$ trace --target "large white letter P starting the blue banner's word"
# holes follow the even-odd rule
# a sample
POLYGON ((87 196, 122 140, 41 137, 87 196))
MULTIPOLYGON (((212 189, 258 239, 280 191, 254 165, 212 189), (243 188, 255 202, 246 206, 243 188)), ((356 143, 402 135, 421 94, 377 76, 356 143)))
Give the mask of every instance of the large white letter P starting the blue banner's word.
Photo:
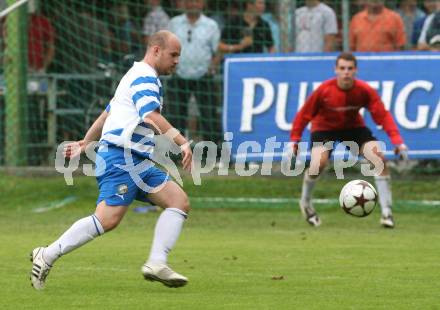
POLYGON ((243 79, 243 101, 241 111, 241 132, 252 131, 252 118, 254 115, 267 111, 272 105, 274 90, 272 83, 263 78, 243 79), (255 89, 257 86, 263 88, 263 97, 260 104, 254 106, 255 89))

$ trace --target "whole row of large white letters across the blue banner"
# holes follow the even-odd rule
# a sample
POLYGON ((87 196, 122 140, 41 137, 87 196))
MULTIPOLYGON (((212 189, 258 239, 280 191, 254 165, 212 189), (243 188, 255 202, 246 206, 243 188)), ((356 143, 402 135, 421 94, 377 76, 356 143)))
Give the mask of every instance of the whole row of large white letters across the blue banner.
MULTIPOLYGON (((393 93, 395 92, 395 81, 368 81, 371 87, 378 90, 381 94, 381 99, 387 110, 391 110, 393 93)), ((252 123, 254 116, 260 115, 268 111, 274 102, 276 102, 275 109, 275 124, 276 126, 284 131, 289 131, 291 128, 292 120, 289 119, 287 115, 287 106, 289 104, 294 104, 295 102, 289 102, 289 91, 291 85, 287 82, 278 83, 274 85, 271 81, 264 78, 246 78, 243 79, 243 99, 242 99, 242 115, 241 115, 241 132, 252 131, 252 123), (256 88, 262 88, 262 98, 259 103, 255 102, 256 88), (276 94, 275 94, 276 88, 276 94), (276 97, 276 98, 275 98, 276 97)), ((298 101, 297 110, 299 110, 310 95, 308 92, 309 85, 312 85, 313 91, 316 90, 321 82, 300 82, 298 88, 298 101)), ((421 129, 428 127, 428 118, 430 112, 429 105, 417 106, 417 112, 413 117, 409 117, 407 113, 407 105, 409 104, 409 98, 411 94, 416 90, 424 90, 430 93, 433 89, 433 83, 426 80, 412 81, 406 84, 400 92, 397 93, 395 104, 394 104, 394 117, 396 122, 406 128, 406 129, 421 129)), ((397 91, 397 90, 396 90, 397 91)), ((364 109, 361 109, 360 113, 364 115, 364 109)), ((412 115, 411 115, 412 116, 412 115)), ((438 128, 440 122, 440 101, 434 110, 433 117, 429 123, 430 129, 438 128)), ((310 126, 310 124, 309 124, 310 126)), ((378 128, 381 128, 378 126, 378 128)))

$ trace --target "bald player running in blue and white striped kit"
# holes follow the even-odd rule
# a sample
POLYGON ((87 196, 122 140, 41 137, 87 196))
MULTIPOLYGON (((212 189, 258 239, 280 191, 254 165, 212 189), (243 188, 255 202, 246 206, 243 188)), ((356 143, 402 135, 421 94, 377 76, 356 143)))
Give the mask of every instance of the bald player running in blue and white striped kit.
POLYGON ((103 172, 97 176, 99 197, 94 214, 75 222, 49 246, 32 251, 31 282, 35 289, 44 288, 50 269, 62 255, 114 229, 134 199, 151 201, 164 208, 156 223, 149 259, 141 268, 143 276, 169 287, 183 286, 188 282, 186 277, 167 265, 168 253, 187 218, 188 197, 148 160, 154 149, 155 131, 174 132, 171 136, 174 143, 181 146, 183 168, 191 169, 192 151, 187 140, 160 114, 163 91, 158 75, 174 71, 180 50, 180 42, 171 32, 153 34, 144 59, 135 62, 121 79, 106 111, 79 142, 80 148, 75 149, 72 145, 65 148, 66 157, 78 156, 101 136, 97 155, 104 160, 105 166, 97 161, 97 171, 101 169, 103 172), (126 157, 130 160, 126 161, 126 157), (139 171, 140 165, 147 168, 139 171), (135 182, 133 173, 142 182, 135 182), (151 190, 147 192, 146 189, 151 190))

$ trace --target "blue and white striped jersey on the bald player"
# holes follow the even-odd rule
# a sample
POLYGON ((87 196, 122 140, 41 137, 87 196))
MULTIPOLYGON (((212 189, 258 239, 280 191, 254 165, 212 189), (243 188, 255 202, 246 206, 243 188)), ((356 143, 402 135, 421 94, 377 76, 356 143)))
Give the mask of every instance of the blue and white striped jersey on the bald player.
POLYGON ((123 76, 106 110, 101 144, 129 148, 144 158, 154 151, 154 131, 144 117, 162 109, 162 84, 156 71, 145 62, 135 62, 123 76))

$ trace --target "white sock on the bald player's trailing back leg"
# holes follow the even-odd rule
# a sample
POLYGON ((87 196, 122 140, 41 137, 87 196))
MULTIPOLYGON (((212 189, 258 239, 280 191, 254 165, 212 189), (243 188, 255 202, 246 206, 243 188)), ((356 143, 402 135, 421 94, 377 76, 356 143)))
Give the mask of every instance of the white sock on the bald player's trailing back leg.
POLYGON ((52 265, 62 255, 73 251, 104 233, 104 228, 96 215, 76 221, 54 243, 44 249, 43 259, 52 265))

